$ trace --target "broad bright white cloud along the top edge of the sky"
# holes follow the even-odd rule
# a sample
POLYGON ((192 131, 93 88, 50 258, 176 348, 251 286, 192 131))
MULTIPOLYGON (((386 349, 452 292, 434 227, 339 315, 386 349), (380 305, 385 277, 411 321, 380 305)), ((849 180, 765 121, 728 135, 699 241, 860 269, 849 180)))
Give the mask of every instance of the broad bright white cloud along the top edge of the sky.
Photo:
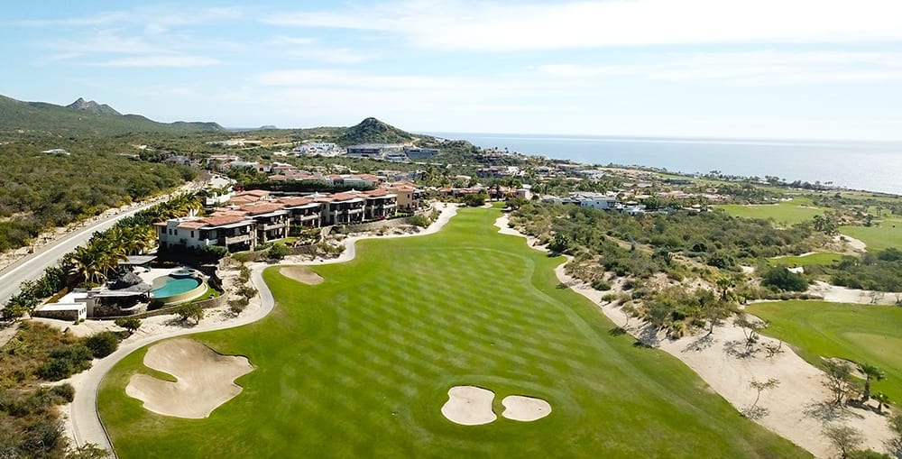
POLYGON ((408 1, 274 14, 266 23, 385 32, 438 50, 902 40, 897 0, 408 1))

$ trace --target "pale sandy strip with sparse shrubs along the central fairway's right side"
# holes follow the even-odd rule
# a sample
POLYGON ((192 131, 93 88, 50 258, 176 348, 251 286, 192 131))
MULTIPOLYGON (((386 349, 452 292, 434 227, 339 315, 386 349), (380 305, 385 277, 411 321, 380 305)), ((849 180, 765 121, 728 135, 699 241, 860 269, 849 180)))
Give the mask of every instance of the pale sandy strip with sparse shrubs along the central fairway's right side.
MULTIPOLYGON (((503 234, 519 234, 507 227, 505 217, 499 218, 495 225, 502 228, 503 234)), ((529 245, 535 247, 532 241, 529 245)), ((667 340, 639 320, 630 320, 620 307, 603 301, 601 298, 608 292, 592 289, 566 275, 564 264, 557 267, 556 273, 558 280, 599 305, 614 324, 636 337, 653 336, 659 349, 686 363, 737 410, 749 412, 752 415, 750 418, 760 425, 817 457, 835 455, 833 446, 821 434, 827 422, 844 423, 858 429, 865 438, 862 446, 875 451, 883 451, 883 442, 891 436, 887 418, 873 411, 827 407, 824 400, 830 398, 830 393, 822 384, 824 372, 805 362, 788 345, 782 345, 781 352, 769 358, 765 345, 779 345, 779 342, 760 336, 751 352, 745 352, 743 330, 732 323, 715 327, 712 335, 703 332, 667 340), (757 391, 751 389, 750 382, 768 381, 770 378, 779 381, 778 387, 762 392, 757 409, 749 411, 757 395, 757 391)))

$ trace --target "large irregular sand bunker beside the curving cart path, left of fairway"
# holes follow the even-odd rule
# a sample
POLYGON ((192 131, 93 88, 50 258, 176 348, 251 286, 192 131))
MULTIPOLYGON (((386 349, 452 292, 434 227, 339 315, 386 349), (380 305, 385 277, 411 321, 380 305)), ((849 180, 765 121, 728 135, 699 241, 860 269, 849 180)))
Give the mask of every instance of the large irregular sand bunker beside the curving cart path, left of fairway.
POLYGON ((162 381, 152 376, 132 375, 125 393, 142 400, 144 408, 177 418, 207 418, 214 409, 241 392, 239 376, 253 371, 245 357, 221 355, 187 338, 154 344, 144 355, 144 365, 175 376, 162 381))

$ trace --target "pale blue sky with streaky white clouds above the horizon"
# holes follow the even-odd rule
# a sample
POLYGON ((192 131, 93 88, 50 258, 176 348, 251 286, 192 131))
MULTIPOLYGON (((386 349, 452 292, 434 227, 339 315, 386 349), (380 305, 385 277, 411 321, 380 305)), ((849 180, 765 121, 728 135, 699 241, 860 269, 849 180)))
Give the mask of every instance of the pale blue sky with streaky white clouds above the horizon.
POLYGON ((899 0, 3 2, 0 51, 163 122, 902 140, 899 0))

